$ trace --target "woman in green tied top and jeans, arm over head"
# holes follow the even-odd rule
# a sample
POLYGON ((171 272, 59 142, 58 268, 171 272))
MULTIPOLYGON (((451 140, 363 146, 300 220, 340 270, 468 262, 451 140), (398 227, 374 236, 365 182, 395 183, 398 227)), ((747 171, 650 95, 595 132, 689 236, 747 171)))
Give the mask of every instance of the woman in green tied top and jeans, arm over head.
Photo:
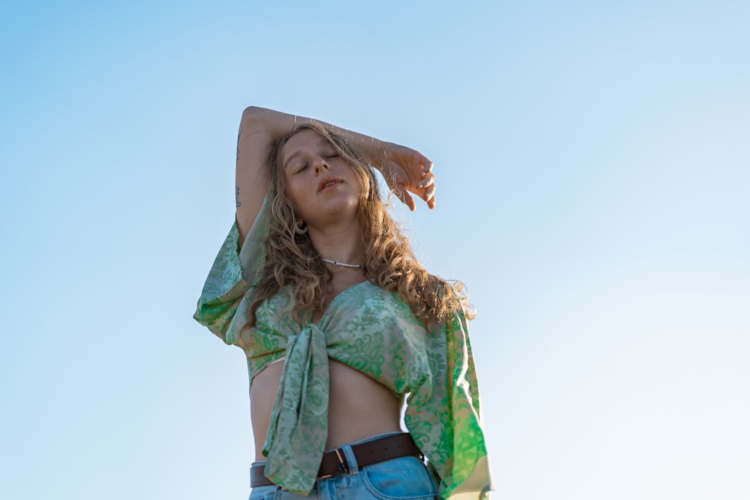
POLYGON ((248 358, 251 500, 490 489, 462 300, 414 259, 372 167, 434 207, 432 163, 410 148, 242 115, 236 223, 194 317, 248 358))

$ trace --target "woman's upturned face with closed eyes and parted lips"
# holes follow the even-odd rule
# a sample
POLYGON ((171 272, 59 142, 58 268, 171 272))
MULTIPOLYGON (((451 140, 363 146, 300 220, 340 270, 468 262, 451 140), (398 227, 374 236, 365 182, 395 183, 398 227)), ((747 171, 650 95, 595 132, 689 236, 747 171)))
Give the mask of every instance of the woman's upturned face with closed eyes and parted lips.
POLYGON ((297 217, 323 229, 356 220, 362 184, 351 166, 314 130, 293 135, 281 151, 287 198, 297 217))

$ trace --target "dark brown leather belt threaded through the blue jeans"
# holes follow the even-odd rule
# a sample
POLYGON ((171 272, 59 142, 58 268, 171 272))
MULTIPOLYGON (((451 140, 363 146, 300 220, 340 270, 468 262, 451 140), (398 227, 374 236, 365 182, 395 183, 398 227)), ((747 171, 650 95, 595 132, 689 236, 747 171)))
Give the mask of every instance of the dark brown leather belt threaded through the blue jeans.
MULTIPOLYGON (((412 436, 409 433, 395 434, 394 436, 384 436, 380 439, 351 445, 354 452, 354 458, 358 467, 371 466, 374 463, 385 462, 401 457, 422 457, 417 445, 414 444, 412 436)), ((338 474, 344 474, 349 471, 347 457, 344 456, 344 450, 336 448, 332 451, 326 451, 323 454, 323 460, 320 462, 318 469, 318 479, 331 478, 338 474)), ((264 474, 266 466, 252 466, 250 468, 250 486, 269 486, 274 484, 264 474)))

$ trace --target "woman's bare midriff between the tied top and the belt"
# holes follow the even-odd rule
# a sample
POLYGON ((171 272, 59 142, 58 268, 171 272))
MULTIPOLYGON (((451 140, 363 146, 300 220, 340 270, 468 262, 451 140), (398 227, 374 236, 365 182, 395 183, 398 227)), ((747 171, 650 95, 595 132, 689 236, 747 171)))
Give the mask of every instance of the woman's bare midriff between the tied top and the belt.
MULTIPOLYGON (((284 362, 266 367, 253 379, 250 413, 255 460, 263 457, 271 409, 278 392, 284 362)), ((385 385, 329 358, 329 433, 326 450, 401 430, 401 401, 385 385)))

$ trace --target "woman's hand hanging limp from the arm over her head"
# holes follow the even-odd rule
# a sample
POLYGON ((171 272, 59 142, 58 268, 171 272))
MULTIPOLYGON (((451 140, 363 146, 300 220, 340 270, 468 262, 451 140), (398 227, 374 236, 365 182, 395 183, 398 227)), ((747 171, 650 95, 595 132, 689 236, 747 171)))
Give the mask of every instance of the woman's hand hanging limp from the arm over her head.
POLYGON ((411 193, 424 199, 429 208, 435 206, 435 175, 432 162, 419 151, 386 142, 380 171, 393 192, 410 210, 416 208, 411 193))

